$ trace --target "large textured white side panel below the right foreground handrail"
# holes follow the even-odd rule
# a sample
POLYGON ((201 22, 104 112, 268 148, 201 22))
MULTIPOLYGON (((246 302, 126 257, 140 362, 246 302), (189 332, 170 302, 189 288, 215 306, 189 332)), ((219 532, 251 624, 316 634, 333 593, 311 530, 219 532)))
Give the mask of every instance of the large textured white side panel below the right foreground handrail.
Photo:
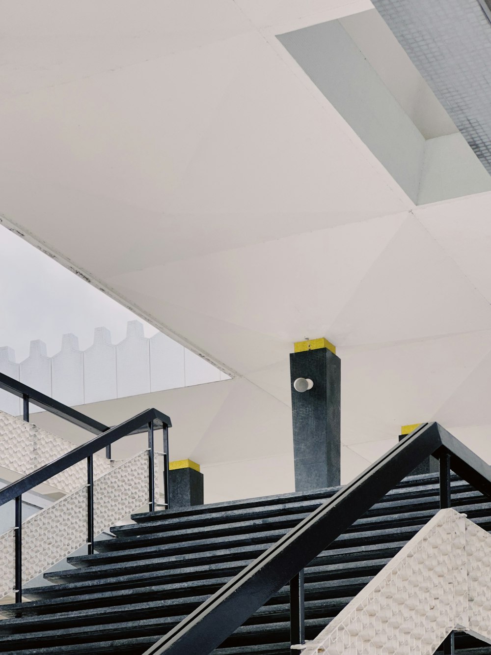
POLYGON ((302 655, 433 655, 454 629, 491 644, 491 536, 440 510, 302 655))

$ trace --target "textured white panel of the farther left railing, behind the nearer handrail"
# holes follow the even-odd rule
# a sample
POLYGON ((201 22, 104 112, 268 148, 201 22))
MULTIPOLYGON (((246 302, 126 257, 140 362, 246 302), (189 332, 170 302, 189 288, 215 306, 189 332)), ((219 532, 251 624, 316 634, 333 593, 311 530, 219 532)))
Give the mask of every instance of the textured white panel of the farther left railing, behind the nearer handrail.
MULTIPOLYGON (((69 453, 75 446, 33 423, 0 411, 0 466, 23 476, 39 466, 49 464, 69 453)), ((94 476, 100 477, 111 470, 111 463, 100 455, 94 455, 94 476)), ((79 489, 87 481, 86 462, 50 478, 47 483, 69 492, 79 489)))

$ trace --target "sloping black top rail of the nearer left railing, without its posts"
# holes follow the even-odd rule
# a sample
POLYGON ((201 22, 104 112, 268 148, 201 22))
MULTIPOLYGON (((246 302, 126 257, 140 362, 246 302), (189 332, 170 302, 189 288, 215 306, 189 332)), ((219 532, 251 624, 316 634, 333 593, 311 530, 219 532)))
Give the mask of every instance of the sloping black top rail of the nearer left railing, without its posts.
POLYGON ((128 436, 128 434, 131 434, 134 430, 143 428, 143 426, 147 429, 147 425, 151 422, 154 422, 155 427, 167 426, 170 428, 172 426, 170 418, 158 411, 158 409, 145 409, 145 411, 137 414, 131 419, 123 421, 113 428, 107 429, 106 432, 103 432, 99 436, 94 437, 94 439, 86 441, 86 443, 82 443, 82 445, 73 448, 69 453, 62 455, 62 457, 58 457, 58 459, 53 460, 49 464, 40 466, 32 473, 29 473, 16 482, 10 483, 7 487, 0 489, 0 507, 6 502, 9 502, 9 500, 14 500, 14 498, 26 493, 26 491, 30 491, 33 487, 37 487, 37 485, 46 482, 50 477, 56 476, 58 473, 69 468, 69 466, 81 462, 106 446, 111 445, 111 443, 118 441, 120 438, 128 436))

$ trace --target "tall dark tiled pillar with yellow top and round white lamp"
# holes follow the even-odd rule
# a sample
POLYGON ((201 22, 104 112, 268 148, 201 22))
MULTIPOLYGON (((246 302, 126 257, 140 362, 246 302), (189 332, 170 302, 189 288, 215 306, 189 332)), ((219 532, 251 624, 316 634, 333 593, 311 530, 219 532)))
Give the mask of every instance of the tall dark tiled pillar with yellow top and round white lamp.
POLYGON ((335 487, 341 453, 341 360, 335 347, 327 339, 296 343, 290 375, 295 491, 335 487))

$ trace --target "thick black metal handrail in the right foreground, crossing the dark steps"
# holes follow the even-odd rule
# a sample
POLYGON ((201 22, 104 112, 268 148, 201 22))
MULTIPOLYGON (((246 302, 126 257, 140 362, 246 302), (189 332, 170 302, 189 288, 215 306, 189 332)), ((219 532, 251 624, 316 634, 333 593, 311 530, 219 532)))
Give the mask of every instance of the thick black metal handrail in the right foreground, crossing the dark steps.
POLYGON ((450 506, 450 469, 491 496, 491 466, 439 424, 422 424, 259 555, 144 655, 208 655, 289 582, 291 607, 302 612, 303 595, 299 602, 298 594, 303 569, 430 455, 440 461, 441 508, 450 506))

